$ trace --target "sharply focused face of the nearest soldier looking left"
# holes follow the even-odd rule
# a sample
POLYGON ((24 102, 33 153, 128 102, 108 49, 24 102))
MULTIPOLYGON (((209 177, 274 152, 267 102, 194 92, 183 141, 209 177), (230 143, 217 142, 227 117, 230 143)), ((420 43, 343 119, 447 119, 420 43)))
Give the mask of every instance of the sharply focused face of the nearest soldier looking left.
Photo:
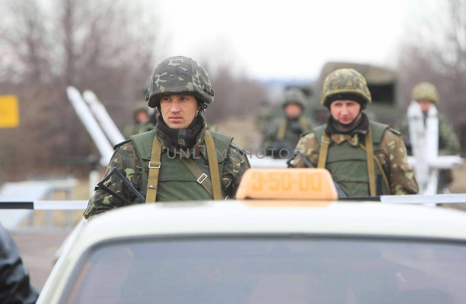
POLYGON ((171 129, 187 129, 200 110, 192 95, 170 95, 160 99, 160 111, 171 129))

